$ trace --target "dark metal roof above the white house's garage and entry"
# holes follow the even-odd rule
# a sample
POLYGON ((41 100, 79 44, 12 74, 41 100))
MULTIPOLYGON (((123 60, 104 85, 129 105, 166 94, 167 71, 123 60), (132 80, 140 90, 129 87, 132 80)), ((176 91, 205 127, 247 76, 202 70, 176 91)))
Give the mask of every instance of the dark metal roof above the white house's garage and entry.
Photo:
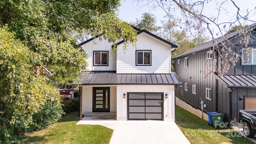
POLYGON ((116 74, 116 71, 82 71, 81 85, 180 85, 175 72, 170 74, 116 74))

